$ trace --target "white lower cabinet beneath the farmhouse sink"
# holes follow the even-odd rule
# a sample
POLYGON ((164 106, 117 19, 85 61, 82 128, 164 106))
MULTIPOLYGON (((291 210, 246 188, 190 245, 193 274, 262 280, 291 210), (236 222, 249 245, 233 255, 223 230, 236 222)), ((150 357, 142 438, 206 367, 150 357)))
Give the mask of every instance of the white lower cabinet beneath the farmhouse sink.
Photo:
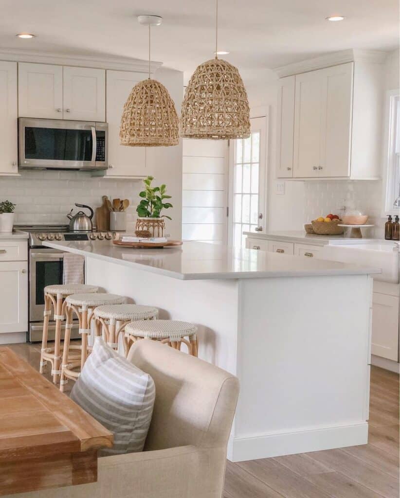
MULTIPOLYGON (((397 287, 398 291, 399 285, 394 286, 397 287)), ((399 293, 390 295, 374 292, 372 302, 371 353, 397 362, 399 354, 399 293)))

